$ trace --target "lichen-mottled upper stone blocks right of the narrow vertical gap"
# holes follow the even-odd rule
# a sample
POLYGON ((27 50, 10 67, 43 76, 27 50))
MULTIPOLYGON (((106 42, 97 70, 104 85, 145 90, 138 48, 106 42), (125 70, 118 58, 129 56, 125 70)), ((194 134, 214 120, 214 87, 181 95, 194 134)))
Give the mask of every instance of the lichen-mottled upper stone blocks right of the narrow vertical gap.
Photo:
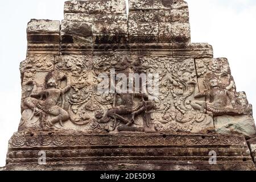
MULTIPOLYGON (((156 3, 156 1, 154 2, 156 3)), ((130 9, 133 9, 134 2, 130 3, 130 9)), ((163 7, 157 7, 158 5, 154 5, 154 3, 146 1, 142 1, 141 3, 146 4, 144 9, 135 9, 129 13, 128 27, 130 43, 190 42, 190 25, 188 22, 187 7, 181 6, 175 9, 170 6, 170 9, 163 10, 163 7), (148 8, 147 5, 149 5, 148 8)))

